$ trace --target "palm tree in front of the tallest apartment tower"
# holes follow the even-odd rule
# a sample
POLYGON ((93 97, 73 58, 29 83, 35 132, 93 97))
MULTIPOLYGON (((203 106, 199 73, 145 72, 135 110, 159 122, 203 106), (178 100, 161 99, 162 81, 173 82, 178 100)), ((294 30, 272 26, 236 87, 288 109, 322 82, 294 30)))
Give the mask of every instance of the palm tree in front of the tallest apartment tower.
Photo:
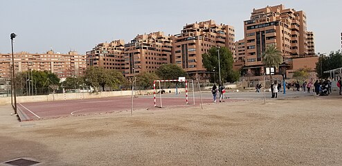
MULTIPOLYGON (((277 67, 282 64, 282 52, 278 50, 276 45, 271 44, 267 46, 264 53, 262 53, 262 64, 266 67, 277 67)), ((272 75, 270 73, 271 80, 272 75)))

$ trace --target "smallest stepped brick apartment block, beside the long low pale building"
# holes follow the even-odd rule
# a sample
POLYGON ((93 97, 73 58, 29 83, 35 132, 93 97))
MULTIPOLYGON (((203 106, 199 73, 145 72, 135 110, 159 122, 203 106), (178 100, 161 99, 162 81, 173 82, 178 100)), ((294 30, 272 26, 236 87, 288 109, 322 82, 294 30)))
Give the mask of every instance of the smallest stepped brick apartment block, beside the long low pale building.
POLYGON ((125 73, 124 50, 125 42, 122 39, 100 43, 87 51, 87 66, 101 66, 125 73))

